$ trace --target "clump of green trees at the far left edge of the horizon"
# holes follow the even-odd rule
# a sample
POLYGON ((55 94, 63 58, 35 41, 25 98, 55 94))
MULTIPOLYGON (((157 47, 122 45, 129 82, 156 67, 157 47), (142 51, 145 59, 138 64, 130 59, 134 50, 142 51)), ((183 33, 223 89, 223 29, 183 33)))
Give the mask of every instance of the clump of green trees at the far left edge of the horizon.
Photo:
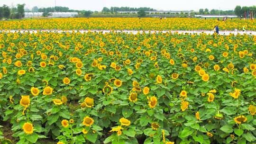
POLYGON ((24 11, 25 4, 18 4, 17 7, 9 8, 7 5, 3 5, 0 7, 0 19, 2 18, 11 18, 11 19, 18 19, 24 18, 25 11, 24 11))

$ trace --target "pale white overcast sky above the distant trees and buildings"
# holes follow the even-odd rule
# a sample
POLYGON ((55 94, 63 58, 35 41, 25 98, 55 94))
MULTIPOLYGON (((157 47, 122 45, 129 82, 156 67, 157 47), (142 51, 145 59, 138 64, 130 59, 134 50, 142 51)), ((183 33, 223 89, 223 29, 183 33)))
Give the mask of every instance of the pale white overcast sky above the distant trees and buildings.
MULTIPOLYGON (((55 0, 0 0, 0 6, 3 4, 15 6, 18 3, 25 3, 25 8, 29 9, 34 6, 38 8, 55 6, 55 0)), ((201 8, 231 10, 237 5, 256 5, 256 0, 56 0, 56 6, 92 11, 101 11, 103 7, 150 7, 157 10, 197 11, 201 8)))

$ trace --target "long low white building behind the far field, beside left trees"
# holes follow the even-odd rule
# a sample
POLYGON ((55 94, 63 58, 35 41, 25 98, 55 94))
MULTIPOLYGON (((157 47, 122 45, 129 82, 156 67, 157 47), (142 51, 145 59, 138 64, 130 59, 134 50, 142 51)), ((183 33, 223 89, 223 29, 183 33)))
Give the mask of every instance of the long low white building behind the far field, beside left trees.
MULTIPOLYGON (((78 15, 77 12, 50 12, 49 18, 73 18, 78 15)), ((42 17, 43 12, 25 12, 25 18, 42 17)))

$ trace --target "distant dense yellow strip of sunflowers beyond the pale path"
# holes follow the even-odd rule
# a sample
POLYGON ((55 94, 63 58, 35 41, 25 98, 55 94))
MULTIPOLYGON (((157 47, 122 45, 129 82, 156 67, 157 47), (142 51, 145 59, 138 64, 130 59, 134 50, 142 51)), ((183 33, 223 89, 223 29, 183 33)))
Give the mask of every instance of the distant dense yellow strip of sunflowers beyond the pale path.
POLYGON ((2 29, 126 29, 126 30, 212 30, 218 25, 220 30, 255 31, 255 20, 238 18, 218 21, 199 18, 47 18, 0 21, 2 29))

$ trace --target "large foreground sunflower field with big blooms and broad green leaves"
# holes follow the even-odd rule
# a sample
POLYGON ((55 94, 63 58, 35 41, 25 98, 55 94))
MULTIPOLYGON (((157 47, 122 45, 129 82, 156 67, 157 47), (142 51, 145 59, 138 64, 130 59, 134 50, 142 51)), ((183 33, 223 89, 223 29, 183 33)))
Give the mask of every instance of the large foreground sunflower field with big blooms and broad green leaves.
POLYGON ((4 144, 256 143, 256 36, 1 32, 0 61, 4 144))

